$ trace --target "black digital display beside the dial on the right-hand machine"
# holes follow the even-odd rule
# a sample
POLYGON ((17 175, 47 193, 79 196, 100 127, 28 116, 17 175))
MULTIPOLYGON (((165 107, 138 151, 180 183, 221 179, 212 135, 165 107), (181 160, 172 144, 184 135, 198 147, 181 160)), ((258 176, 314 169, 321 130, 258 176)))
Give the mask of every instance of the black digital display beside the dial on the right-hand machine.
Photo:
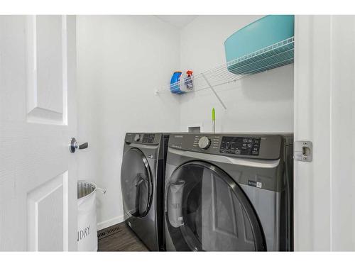
POLYGON ((258 156, 261 138, 222 137, 220 153, 258 156))

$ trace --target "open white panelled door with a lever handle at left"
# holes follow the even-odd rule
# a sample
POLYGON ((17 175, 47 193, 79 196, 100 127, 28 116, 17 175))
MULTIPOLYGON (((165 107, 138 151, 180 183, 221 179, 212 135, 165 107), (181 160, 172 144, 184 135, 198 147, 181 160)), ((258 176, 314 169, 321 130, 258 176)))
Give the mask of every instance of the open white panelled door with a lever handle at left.
POLYGON ((76 250, 75 16, 0 16, 0 250, 76 250))

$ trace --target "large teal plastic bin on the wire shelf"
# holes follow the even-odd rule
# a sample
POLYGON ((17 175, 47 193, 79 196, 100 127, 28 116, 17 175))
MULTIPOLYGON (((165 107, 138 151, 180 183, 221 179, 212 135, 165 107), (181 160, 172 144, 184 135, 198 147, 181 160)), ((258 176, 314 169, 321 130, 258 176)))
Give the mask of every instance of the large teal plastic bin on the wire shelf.
POLYGON ((293 62, 294 28, 293 15, 265 16, 241 28, 224 42, 228 70, 253 74, 293 62))

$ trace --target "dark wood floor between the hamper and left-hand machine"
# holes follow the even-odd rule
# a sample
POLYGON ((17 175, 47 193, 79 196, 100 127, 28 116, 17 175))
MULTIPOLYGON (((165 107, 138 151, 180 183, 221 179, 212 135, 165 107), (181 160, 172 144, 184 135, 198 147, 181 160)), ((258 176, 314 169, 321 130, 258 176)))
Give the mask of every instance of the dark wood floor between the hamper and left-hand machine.
MULTIPOLYGON (((126 223, 119 223, 110 228, 116 226, 119 226, 119 230, 116 233, 99 239, 99 251, 149 251, 131 228, 126 226, 126 223)), ((102 229, 102 231, 107 229, 109 228, 102 229)))

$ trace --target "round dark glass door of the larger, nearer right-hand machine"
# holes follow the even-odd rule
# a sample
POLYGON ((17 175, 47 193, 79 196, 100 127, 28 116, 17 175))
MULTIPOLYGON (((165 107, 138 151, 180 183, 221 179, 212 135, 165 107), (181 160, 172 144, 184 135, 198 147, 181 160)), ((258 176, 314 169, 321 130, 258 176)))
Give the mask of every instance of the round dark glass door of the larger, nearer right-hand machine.
POLYGON ((175 250, 266 250, 249 199, 218 167, 187 162, 173 172, 165 193, 175 250))

